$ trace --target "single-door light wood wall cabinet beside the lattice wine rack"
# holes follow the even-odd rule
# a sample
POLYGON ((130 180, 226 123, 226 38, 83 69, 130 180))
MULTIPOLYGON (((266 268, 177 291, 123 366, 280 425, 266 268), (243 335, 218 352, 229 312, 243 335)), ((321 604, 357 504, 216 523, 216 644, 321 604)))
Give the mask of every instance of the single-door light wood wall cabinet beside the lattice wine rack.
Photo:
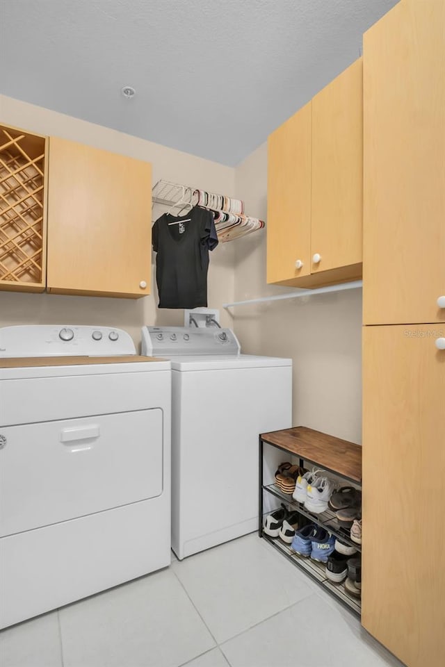
POLYGON ((151 195, 148 163, 51 137, 49 292, 147 295, 151 195))

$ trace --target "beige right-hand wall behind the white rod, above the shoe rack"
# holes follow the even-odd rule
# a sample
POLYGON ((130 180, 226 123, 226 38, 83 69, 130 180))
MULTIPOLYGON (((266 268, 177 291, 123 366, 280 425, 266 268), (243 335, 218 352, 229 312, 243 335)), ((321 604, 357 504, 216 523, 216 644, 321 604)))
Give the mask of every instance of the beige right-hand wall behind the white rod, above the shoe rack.
MULTIPOLYGON (((262 145, 236 168, 236 196, 266 220, 267 151, 262 145)), ((266 233, 235 246, 235 300, 282 294, 266 286, 266 233)), ((243 352, 293 359, 293 424, 361 442, 361 290, 237 306, 234 328, 243 352)))

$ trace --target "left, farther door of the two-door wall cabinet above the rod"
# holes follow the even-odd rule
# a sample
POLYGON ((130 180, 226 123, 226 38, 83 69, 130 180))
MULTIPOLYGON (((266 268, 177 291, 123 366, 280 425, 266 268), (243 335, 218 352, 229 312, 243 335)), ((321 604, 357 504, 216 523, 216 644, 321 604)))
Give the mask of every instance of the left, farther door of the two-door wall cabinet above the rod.
POLYGON ((267 281, 292 284, 311 272, 310 102, 268 138, 267 202, 267 281))

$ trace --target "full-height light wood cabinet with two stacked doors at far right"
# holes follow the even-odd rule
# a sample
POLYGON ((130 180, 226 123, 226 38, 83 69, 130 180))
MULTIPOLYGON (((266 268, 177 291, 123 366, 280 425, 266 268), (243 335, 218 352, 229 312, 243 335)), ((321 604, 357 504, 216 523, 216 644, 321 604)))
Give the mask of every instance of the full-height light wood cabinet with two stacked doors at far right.
POLYGON ((445 655, 444 26, 364 35, 362 623, 408 667, 445 655))

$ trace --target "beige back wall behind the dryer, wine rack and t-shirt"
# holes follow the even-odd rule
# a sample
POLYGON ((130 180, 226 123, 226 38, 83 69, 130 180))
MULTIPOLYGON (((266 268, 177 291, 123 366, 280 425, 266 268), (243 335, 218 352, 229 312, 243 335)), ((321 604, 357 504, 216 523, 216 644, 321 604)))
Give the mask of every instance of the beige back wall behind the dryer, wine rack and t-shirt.
MULTIPOLYGON (((56 135, 152 163, 153 180, 178 183, 234 194, 234 170, 209 160, 138 139, 118 131, 88 123, 42 107, 0 96, 0 123, 44 135, 56 135)), ((153 220, 165 208, 154 209, 153 220)), ((234 297, 234 244, 220 244, 211 253, 209 306, 220 308, 234 297)), ((74 297, 49 294, 19 294, 0 291, 0 327, 8 324, 102 324, 127 329, 136 343, 143 324, 183 324, 184 311, 156 308, 156 281, 153 294, 137 301, 104 297, 74 297)), ((222 322, 231 324, 221 309, 222 322)))

